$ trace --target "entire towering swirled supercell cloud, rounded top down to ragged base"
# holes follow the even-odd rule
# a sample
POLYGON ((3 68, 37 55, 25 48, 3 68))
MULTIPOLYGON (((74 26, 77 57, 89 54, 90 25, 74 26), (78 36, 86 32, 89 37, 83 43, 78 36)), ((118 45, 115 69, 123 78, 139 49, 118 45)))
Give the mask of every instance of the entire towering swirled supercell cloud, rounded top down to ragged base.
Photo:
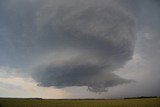
POLYGON ((54 14, 41 19, 45 23, 40 32, 49 32, 53 51, 40 56, 32 74, 40 86, 88 86, 90 91, 103 92, 131 82, 113 71, 132 58, 134 20, 116 3, 99 2, 60 3, 56 12, 47 7, 54 14))

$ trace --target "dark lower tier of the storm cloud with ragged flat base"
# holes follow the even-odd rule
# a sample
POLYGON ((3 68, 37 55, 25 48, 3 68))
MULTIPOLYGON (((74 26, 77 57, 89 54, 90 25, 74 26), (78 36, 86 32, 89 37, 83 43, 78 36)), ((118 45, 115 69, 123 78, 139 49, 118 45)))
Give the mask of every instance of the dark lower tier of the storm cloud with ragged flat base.
MULTIPOLYGON (((42 64, 38 66, 38 72, 34 72, 33 77, 40 81, 40 86, 56 86, 58 88, 88 86, 89 90, 97 92, 106 91, 105 88, 107 87, 131 82, 121 79, 111 72, 116 65, 111 65, 111 63, 102 59, 93 59, 86 54, 89 53, 71 55, 69 59, 64 58, 62 61, 59 61, 59 59, 47 63, 42 61, 42 64)), ((63 55, 51 56, 59 58, 63 55)), ((49 56, 49 58, 51 57, 49 56)))

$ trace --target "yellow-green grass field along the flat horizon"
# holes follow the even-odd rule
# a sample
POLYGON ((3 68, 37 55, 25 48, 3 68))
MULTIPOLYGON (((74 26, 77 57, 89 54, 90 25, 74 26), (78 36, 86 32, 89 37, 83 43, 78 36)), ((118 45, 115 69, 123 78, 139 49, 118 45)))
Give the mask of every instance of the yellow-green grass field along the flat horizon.
POLYGON ((0 107, 160 107, 160 98, 120 100, 0 99, 0 107))

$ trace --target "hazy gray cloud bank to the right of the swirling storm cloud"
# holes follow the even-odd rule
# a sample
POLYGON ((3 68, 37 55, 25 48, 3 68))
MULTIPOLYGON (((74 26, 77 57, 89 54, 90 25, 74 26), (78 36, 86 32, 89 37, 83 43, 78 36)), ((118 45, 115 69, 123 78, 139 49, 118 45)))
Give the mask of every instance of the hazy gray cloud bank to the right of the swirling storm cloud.
MULTIPOLYGON (((140 64, 132 64, 132 72, 135 75, 136 83, 139 84, 135 88, 132 96, 160 95, 160 1, 159 0, 125 0, 128 4, 127 8, 134 13, 137 20, 137 41, 135 46, 135 55, 138 54, 141 58, 140 64), (134 5, 133 5, 134 4, 134 5), (137 66, 137 67, 136 67, 137 66), (139 67, 138 67, 139 66, 139 67), (143 70, 144 69, 144 70, 143 70), (138 71, 138 72, 137 72, 138 71), (142 73, 141 76, 139 74, 142 73), (138 90, 138 92, 137 92, 138 90), (137 93, 137 94, 136 94, 137 93)), ((131 70, 132 67, 128 67, 131 70)), ((132 90, 126 93, 129 93, 132 90)))

